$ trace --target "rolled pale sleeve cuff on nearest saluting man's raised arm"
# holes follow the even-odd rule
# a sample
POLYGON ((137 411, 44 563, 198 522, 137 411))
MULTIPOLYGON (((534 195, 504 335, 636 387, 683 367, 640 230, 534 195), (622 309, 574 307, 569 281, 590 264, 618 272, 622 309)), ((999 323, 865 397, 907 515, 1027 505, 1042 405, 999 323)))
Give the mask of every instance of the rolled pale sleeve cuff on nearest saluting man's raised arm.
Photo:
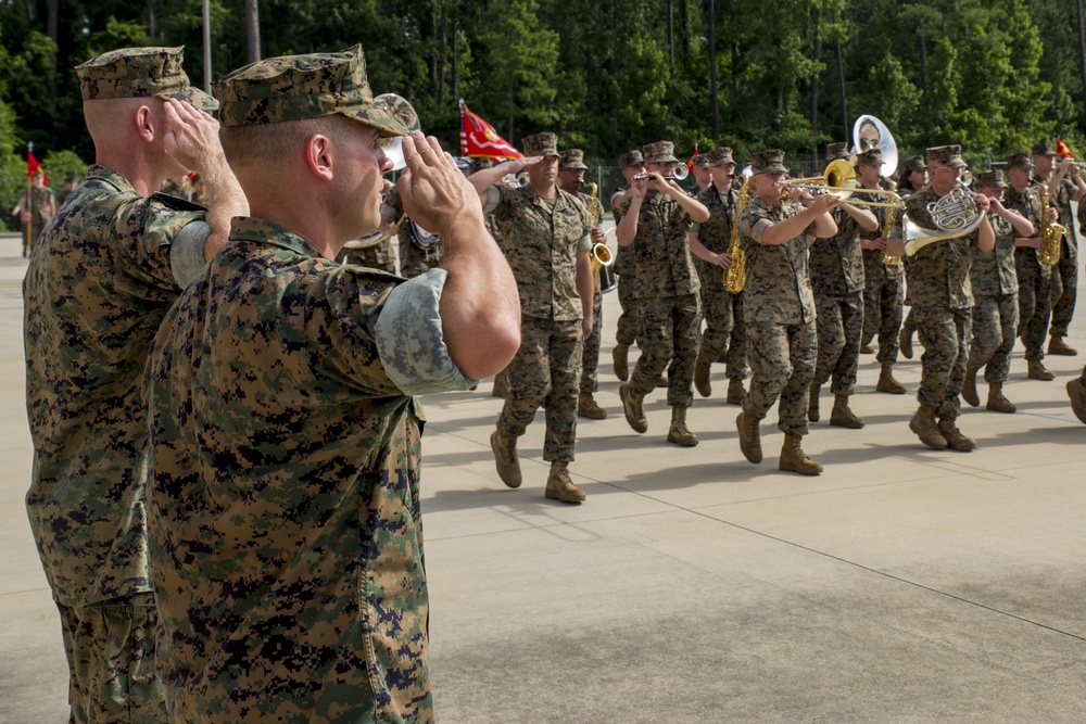
POLYGON ((375 325, 377 351, 389 379, 408 395, 469 390, 441 331, 441 291, 449 272, 430 269, 389 294, 375 325))

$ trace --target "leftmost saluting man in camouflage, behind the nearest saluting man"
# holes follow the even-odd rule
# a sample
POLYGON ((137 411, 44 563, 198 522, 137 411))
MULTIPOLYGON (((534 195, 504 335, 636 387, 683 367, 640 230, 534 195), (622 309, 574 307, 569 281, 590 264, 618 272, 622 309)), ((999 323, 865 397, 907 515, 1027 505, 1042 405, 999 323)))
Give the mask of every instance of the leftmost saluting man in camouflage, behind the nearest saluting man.
POLYGON ((216 107, 189 86, 180 48, 111 51, 76 71, 102 165, 90 167, 47 227, 23 281, 34 442, 26 507, 60 611, 71 721, 164 722, 139 381, 159 323, 204 264, 205 244, 217 247, 228 212, 248 206, 218 147, 217 124, 172 123, 162 110, 159 99, 172 97, 216 107), (146 104, 135 110, 131 98, 146 104), (175 134, 173 154, 162 132, 131 142, 144 111, 144 122, 175 134), (213 145, 191 147, 193 127, 213 145), (226 213, 222 227, 180 199, 140 192, 157 190, 201 152, 195 163, 220 179, 213 190, 226 213), (144 170, 130 178, 108 167, 134 158, 144 170))

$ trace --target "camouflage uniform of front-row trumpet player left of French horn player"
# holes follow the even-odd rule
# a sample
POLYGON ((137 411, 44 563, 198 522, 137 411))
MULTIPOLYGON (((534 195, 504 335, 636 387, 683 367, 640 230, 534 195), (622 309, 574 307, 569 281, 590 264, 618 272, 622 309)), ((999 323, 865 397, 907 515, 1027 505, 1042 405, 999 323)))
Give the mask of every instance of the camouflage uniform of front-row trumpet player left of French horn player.
POLYGON ((743 317, 750 365, 750 392, 743 399, 743 412, 765 419, 780 397, 778 428, 794 435, 807 434, 807 393, 818 359, 806 240, 815 233, 815 224, 783 244, 765 244, 761 238, 769 226, 803 212, 803 204, 781 201, 772 207, 752 193, 737 221, 746 254, 743 317))

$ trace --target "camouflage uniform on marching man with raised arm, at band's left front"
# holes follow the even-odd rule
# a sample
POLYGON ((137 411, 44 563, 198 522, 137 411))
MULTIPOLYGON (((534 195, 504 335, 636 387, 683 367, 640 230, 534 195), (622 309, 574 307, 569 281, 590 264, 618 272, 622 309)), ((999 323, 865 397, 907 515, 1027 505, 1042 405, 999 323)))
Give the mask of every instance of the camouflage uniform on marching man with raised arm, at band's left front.
POLYGON ((555 188, 553 205, 531 186, 488 190, 484 211, 502 229, 505 258, 520 293, 520 350, 507 367, 509 394, 497 431, 519 437, 546 410, 544 460, 573 460, 581 377, 581 300, 577 254, 588 252, 592 217, 577 196, 555 188))

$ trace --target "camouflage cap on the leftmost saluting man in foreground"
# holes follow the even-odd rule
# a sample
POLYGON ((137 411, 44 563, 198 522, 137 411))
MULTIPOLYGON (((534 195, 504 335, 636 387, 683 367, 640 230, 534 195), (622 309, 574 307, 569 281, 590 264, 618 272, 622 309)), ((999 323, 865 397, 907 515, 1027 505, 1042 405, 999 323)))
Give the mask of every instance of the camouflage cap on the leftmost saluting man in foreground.
POLYGON ((218 102, 189 85, 181 62, 185 48, 122 48, 77 65, 83 100, 110 98, 176 98, 202 111, 218 102))

